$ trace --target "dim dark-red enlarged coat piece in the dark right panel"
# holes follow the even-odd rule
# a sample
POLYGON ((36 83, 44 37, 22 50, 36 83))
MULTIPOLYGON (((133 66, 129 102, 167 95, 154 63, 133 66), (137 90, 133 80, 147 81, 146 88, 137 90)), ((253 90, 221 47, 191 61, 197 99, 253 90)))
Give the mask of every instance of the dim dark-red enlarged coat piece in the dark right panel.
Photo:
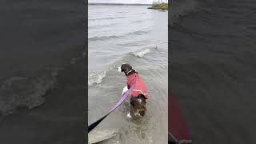
POLYGON ((168 141, 178 144, 191 144, 190 134, 186 126, 186 121, 182 116, 182 110, 178 103, 174 102, 171 91, 168 98, 168 141))

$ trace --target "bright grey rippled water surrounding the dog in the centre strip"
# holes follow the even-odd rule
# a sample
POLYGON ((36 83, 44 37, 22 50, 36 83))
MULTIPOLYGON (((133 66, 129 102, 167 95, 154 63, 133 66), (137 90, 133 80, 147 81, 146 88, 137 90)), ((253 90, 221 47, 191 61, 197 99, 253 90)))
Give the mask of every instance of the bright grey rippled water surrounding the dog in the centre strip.
POLYGON ((130 63, 146 82, 150 99, 144 118, 126 117, 129 98, 96 128, 117 128, 122 143, 167 142, 167 12, 147 6, 89 6, 89 124, 118 101, 130 63))

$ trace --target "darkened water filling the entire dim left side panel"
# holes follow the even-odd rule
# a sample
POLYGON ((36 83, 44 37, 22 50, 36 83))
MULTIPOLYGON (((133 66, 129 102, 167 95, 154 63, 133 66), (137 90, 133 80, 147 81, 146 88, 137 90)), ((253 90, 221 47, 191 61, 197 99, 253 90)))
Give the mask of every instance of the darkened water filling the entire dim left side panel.
POLYGON ((85 7, 80 2, 0 2, 1 143, 84 142, 85 7))

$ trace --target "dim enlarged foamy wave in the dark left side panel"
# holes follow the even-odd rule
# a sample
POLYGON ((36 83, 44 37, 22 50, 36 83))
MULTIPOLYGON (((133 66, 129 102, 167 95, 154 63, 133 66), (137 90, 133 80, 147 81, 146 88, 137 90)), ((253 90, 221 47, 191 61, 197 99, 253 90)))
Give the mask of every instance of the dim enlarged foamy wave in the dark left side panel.
POLYGON ((37 78, 14 76, 0 85, 0 116, 14 114, 18 107, 32 109, 45 102, 43 97, 57 84, 58 69, 37 78))

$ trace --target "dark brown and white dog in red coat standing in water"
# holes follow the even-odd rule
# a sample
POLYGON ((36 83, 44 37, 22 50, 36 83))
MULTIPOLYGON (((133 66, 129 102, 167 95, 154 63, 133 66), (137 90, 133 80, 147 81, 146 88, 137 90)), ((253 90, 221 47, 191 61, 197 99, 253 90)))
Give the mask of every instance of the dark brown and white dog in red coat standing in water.
POLYGON ((134 90, 130 93, 130 113, 127 114, 127 117, 143 117, 146 113, 146 99, 149 98, 145 83, 130 64, 122 64, 122 66, 118 67, 118 71, 123 72, 127 77, 127 85, 123 88, 122 94, 126 93, 130 86, 134 85, 134 90))

